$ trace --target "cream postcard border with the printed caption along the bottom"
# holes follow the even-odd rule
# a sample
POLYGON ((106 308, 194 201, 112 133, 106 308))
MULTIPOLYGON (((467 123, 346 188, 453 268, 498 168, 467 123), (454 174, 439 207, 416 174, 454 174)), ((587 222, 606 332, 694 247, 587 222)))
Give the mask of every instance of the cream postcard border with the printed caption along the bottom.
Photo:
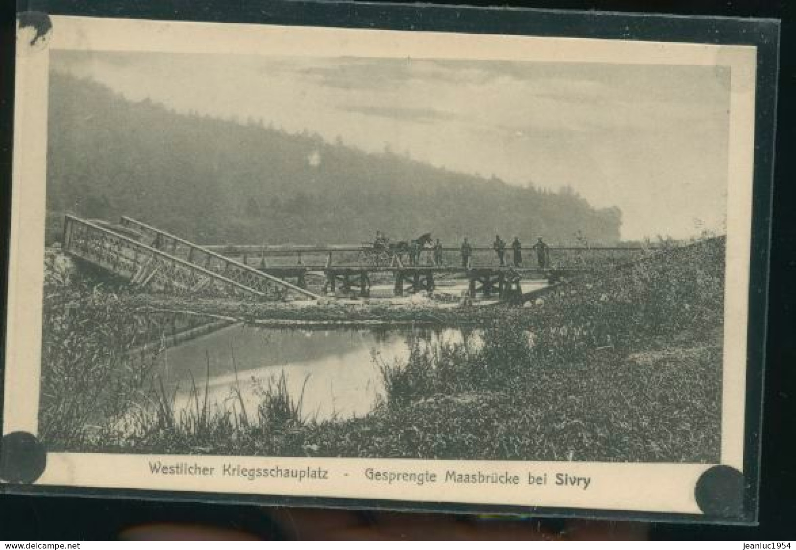
MULTIPOLYGON (((37 433, 49 49, 690 64, 731 69, 721 462, 743 470, 755 47, 62 16, 52 19, 48 47, 37 50, 23 41, 18 47, 4 434, 37 433)), ((700 513, 694 486, 710 466, 51 453, 37 484, 700 513), (158 476, 150 471, 151 463, 158 460, 197 464, 217 471, 223 471, 226 464, 254 468, 272 468, 275 464, 288 468, 322 467, 329 470, 332 478, 326 482, 318 479, 297 483, 275 478, 250 481, 224 475, 158 476), (385 486, 368 480, 368 468, 433 470, 443 478, 451 469, 502 471, 517 474, 526 483, 519 489, 403 482, 385 486), (588 490, 529 485, 529 477, 536 472, 589 477, 595 485, 588 490)))

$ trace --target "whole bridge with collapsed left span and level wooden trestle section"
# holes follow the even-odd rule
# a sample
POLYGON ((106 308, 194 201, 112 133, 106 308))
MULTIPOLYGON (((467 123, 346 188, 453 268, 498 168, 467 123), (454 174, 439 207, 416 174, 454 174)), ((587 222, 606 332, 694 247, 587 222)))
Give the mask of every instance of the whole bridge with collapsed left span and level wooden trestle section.
MULTIPOLYGON (((353 246, 202 246, 127 216, 119 224, 66 216, 63 249, 154 291, 270 300, 288 295, 321 298, 307 290, 308 275, 323 278, 321 294, 369 296, 371 278, 376 274, 392 281, 396 296, 431 294, 439 279, 456 277, 466 280, 470 297, 480 294, 513 300, 522 295, 523 279, 556 283, 648 252, 643 248, 551 247, 549 264, 554 267, 539 267, 533 249, 526 248, 525 266, 508 267, 497 264, 491 248, 474 248, 466 266, 458 257, 458 248, 444 248, 447 257, 441 263, 433 263, 430 255, 423 254, 414 265, 404 264, 400 256, 386 264, 374 264, 363 259, 362 247, 353 246)), ((506 259, 510 256, 507 252, 506 259)))

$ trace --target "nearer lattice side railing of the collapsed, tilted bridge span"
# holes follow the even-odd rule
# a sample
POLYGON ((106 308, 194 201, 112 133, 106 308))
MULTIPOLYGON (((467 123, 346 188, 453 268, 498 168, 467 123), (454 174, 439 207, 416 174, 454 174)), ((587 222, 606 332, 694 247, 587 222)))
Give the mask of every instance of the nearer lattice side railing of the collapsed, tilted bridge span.
POLYGON ((134 238, 75 216, 64 216, 63 250, 132 283, 179 295, 264 298, 263 292, 194 265, 134 238))

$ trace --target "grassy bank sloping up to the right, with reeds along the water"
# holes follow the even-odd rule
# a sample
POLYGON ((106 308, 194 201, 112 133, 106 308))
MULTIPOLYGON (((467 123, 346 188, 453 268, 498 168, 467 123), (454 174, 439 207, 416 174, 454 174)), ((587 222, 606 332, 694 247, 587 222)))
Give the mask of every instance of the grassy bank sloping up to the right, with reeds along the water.
POLYGON ((561 285, 530 307, 489 308, 478 319, 482 345, 412 337, 408 360, 376 359, 384 400, 364 418, 304 418, 303 390, 291 396, 283 374, 263 385, 252 419, 239 383, 228 406, 216 407, 204 380, 204 388, 192 384, 193 408, 175 412, 173 396, 161 391, 155 406, 140 408, 135 429, 60 444, 110 452, 716 462, 723 312, 724 240, 706 240, 561 285))

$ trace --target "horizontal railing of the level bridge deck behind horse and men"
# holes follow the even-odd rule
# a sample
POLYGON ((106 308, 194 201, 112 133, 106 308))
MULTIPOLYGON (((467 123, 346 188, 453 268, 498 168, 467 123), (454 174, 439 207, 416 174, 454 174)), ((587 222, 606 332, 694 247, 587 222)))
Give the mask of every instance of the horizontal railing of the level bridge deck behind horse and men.
MULTIPOLYGON (((236 259, 252 267, 314 267, 359 266, 365 267, 377 261, 377 252, 371 246, 332 245, 313 246, 258 246, 258 245, 206 245, 205 248, 225 257, 236 259)), ((553 268, 583 269, 604 267, 611 264, 626 263, 657 248, 642 247, 559 247, 548 248, 548 264, 553 268)), ((522 267, 539 267, 537 250, 521 248, 522 267)), ((507 248, 504 255, 507 265, 513 264, 513 250, 507 248)), ((380 261, 384 261, 381 258, 380 261)), ((408 265, 408 255, 404 254, 403 264, 408 265)), ((434 251, 424 248, 420 251, 419 265, 434 265, 434 251)), ((446 266, 462 265, 461 249, 444 247, 442 263, 446 266)), ((470 258, 472 267, 493 267, 499 265, 497 252, 491 247, 474 247, 470 258)))

